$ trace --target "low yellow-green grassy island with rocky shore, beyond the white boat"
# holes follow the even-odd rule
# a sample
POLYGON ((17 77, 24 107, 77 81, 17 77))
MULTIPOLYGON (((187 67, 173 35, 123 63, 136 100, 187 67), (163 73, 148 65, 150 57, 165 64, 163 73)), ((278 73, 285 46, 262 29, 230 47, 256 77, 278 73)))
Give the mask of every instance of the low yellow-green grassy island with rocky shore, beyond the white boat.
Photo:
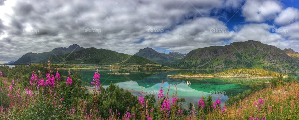
MULTIPOLYGON (((232 69, 220 73, 212 74, 193 74, 180 73, 176 75, 167 75, 169 78, 275 78, 280 73, 264 70, 264 69, 232 69)), ((283 78, 288 77, 282 74, 283 78)))

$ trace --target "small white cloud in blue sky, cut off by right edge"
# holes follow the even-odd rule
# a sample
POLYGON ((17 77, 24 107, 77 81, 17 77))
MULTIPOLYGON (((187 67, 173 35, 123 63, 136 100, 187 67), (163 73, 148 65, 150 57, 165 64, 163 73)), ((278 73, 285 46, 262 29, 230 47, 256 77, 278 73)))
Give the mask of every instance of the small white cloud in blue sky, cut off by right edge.
POLYGON ((278 25, 287 25, 291 24, 294 21, 297 21, 299 19, 299 10, 294 7, 288 7, 285 10, 282 10, 281 13, 279 13, 278 17, 275 18, 274 22, 278 25))

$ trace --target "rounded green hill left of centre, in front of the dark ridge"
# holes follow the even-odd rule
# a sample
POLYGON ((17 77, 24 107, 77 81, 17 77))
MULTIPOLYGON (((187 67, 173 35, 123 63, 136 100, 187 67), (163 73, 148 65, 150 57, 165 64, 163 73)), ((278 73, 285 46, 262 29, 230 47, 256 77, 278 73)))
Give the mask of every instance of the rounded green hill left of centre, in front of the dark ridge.
MULTIPOLYGON (((44 59, 40 63, 47 63, 44 59)), ((51 56, 51 63, 56 64, 103 64, 103 65, 137 65, 137 64, 155 64, 150 60, 139 56, 131 56, 124 53, 118 53, 111 50, 97 49, 94 47, 73 53, 51 56)))

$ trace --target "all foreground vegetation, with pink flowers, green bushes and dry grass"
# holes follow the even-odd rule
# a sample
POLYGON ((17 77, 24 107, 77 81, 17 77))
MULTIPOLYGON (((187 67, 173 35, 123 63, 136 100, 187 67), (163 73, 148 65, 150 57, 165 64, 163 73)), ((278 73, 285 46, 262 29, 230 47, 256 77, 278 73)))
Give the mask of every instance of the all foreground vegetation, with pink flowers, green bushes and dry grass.
POLYGON ((224 106, 221 98, 202 95, 184 109, 185 99, 169 87, 161 86, 155 100, 142 88, 139 97, 112 83, 104 89, 97 72, 88 90, 78 73, 60 78, 50 64, 0 68, 2 119, 299 119, 298 81, 283 76, 269 86, 252 86, 249 94, 230 96, 224 106))

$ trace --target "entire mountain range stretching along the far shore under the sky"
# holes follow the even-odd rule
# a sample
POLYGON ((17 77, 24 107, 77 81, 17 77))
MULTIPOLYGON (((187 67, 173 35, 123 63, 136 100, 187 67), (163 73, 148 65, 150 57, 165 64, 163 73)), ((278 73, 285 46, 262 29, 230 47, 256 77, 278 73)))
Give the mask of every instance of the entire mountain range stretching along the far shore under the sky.
POLYGON ((160 64, 177 69, 228 70, 258 68, 272 71, 298 71, 299 53, 292 49, 281 50, 258 41, 233 42, 225 46, 198 48, 188 54, 179 52, 159 53, 152 48, 140 49, 131 56, 116 51, 83 48, 71 45, 68 48, 55 48, 50 52, 27 53, 14 63, 105 64, 137 65, 160 64))

